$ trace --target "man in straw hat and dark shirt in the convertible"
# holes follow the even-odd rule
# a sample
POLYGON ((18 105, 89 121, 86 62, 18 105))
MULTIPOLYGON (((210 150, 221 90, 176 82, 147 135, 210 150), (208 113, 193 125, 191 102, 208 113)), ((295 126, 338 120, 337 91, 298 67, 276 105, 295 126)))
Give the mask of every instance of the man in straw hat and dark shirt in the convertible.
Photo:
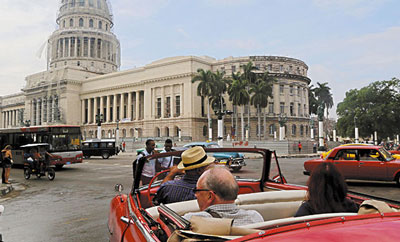
POLYGON ((208 165, 213 164, 215 161, 215 158, 207 156, 200 146, 185 150, 181 158, 182 161, 178 166, 171 168, 157 190, 155 201, 158 203, 173 203, 196 199, 193 189, 196 187, 197 180, 208 165), (174 180, 176 175, 183 173, 182 171, 185 172, 183 178, 174 180))

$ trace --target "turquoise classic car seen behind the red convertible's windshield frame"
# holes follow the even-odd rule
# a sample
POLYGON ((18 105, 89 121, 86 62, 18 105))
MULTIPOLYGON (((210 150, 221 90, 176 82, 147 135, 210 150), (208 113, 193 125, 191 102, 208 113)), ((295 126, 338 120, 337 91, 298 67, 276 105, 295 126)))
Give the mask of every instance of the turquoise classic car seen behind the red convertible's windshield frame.
MULTIPOLYGON (((184 145, 184 148, 201 146, 203 148, 221 148, 216 142, 192 142, 184 145)), ((215 153, 213 156, 222 164, 226 164, 233 171, 239 171, 243 166, 246 166, 244 156, 237 152, 215 153)))

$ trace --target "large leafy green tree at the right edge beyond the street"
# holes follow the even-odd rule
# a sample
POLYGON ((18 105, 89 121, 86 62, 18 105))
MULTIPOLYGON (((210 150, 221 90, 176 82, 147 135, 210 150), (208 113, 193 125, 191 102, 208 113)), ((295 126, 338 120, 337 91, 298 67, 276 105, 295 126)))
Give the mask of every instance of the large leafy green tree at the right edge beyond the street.
POLYGON ((377 81, 366 87, 346 92, 337 106, 338 133, 354 137, 355 117, 360 137, 374 131, 379 137, 394 137, 400 133, 400 81, 377 81))

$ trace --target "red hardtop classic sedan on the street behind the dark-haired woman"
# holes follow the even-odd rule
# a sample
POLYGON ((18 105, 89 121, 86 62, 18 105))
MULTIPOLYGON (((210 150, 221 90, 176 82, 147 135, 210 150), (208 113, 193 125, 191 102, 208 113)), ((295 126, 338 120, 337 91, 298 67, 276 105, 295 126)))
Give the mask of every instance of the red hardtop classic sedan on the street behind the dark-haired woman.
POLYGON ((304 162, 309 175, 321 162, 333 162, 346 179, 396 181, 400 185, 400 160, 382 146, 338 146, 324 158, 304 162))

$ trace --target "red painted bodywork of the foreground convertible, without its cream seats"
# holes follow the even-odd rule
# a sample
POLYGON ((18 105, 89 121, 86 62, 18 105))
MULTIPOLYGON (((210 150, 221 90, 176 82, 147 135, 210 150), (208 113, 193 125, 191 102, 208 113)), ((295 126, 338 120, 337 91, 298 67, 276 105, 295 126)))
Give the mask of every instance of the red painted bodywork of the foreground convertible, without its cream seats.
MULTIPOLYGON (((267 214, 286 213, 286 207, 277 205, 297 204, 300 206, 304 200, 306 187, 286 183, 283 177, 277 159, 272 162, 273 152, 266 149, 252 148, 219 148, 206 149, 207 152, 242 152, 255 153, 258 156, 262 155, 263 165, 260 167, 261 178, 246 179, 237 178, 240 187, 239 196, 253 196, 256 200, 260 196, 269 194, 280 194, 282 196, 281 203, 277 203, 278 198, 274 198, 270 203, 262 202, 261 205, 271 205, 271 209, 265 210, 267 214), (257 193, 257 194, 254 194, 257 193), (303 194, 301 200, 292 201, 287 197, 287 194, 303 194)), ((180 156, 183 151, 175 151, 169 153, 173 156, 180 156)), ((247 154, 246 153, 246 154, 247 154)), ((167 156, 168 153, 159 153, 146 159, 160 158, 167 156)), ((248 158, 246 156, 246 158, 248 158)), ((251 160, 251 158, 248 158, 251 160)), ((140 177, 141 169, 145 161, 141 160, 134 165, 134 177, 140 177)), ((250 162, 251 163, 251 162, 250 162)), ((108 229, 109 239, 112 242, 116 241, 166 241, 174 230, 181 231, 182 228, 177 226, 179 223, 171 223, 166 218, 174 220, 176 213, 167 214, 161 218, 162 206, 154 207, 149 198, 148 193, 155 193, 159 188, 159 184, 139 187, 139 179, 134 179, 132 190, 128 194, 116 195, 110 203, 108 229), (156 210, 158 209, 158 210, 156 210), (159 217, 154 215, 154 211, 158 211, 159 217), (169 216, 170 215, 170 216, 169 216), (173 229, 171 229, 173 228, 173 229)), ((366 196, 360 194, 349 194, 349 197, 356 203, 360 204, 367 199, 366 196)), ((184 202, 185 206, 188 203, 195 201, 184 202)), ((251 204, 248 204, 251 206, 251 204)), ((399 207, 398 204, 390 204, 393 207, 399 207)), ((185 207, 181 203, 168 204, 170 209, 185 207)), ((294 206, 294 211, 297 211, 294 206)), ((264 216, 264 215, 263 215, 264 216)), ((291 215, 293 216, 293 215, 291 215)), ((179 217, 179 216, 178 216, 179 217)), ((357 214, 323 214, 318 218, 311 215, 310 218, 283 216, 282 219, 265 220, 269 225, 260 225, 257 227, 258 232, 245 236, 236 236, 230 238, 233 241, 373 241, 378 239, 384 241, 399 241, 400 240, 400 212, 390 214, 372 214, 372 215, 357 215, 357 214), (328 216, 329 215, 329 216, 328 216), (326 217, 325 217, 326 216, 326 217), (312 217, 312 218, 311 218, 312 217), (371 231, 367 232, 367 231, 371 231)), ((176 218, 176 217, 175 217, 176 218)), ((176 221, 175 221, 176 222, 176 221)), ((184 232, 184 231, 183 231, 184 232)), ((200 234, 202 238, 208 241, 216 241, 210 239, 205 234, 200 234)), ((200 240, 198 240, 200 241, 200 240)), ((220 241, 220 240, 217 240, 220 241)))

